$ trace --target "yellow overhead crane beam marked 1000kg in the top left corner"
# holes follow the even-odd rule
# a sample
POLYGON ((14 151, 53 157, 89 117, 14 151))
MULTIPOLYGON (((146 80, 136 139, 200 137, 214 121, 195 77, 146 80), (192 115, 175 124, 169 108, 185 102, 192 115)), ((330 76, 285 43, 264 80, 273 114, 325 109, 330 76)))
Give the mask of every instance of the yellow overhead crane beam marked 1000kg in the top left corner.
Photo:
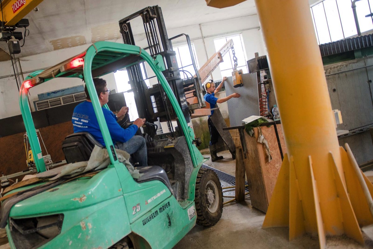
MULTIPOLYGON (((14 26, 25 15, 33 10, 43 0, 3 0, 3 18, 5 26, 14 26)), ((1 15, 0 15, 1 18, 1 15)))

